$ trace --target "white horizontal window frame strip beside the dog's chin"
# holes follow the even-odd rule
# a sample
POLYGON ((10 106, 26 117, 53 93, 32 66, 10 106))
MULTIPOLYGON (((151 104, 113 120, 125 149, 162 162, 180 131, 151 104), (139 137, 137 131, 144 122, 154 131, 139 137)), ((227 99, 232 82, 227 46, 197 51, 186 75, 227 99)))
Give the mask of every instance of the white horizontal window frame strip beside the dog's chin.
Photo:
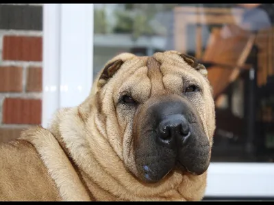
POLYGON ((273 163, 210 163, 208 197, 274 197, 273 163))

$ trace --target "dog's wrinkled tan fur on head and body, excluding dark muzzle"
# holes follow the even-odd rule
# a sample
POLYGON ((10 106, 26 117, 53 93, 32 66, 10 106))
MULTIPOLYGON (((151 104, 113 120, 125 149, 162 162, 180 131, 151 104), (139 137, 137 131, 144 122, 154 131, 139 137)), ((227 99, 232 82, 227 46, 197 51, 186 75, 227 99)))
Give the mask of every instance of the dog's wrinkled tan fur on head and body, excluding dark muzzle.
POLYGON ((81 105, 60 109, 48 129, 30 128, 20 139, 3 143, 0 200, 201 200, 206 172, 200 176, 173 172, 160 182, 144 184, 128 171, 130 167, 136 172, 129 143, 132 113, 114 107, 121 87, 134 87, 134 95, 146 100, 176 94, 182 77, 195 79, 203 86, 203 96, 191 102, 212 145, 214 102, 206 70, 195 70, 179 55, 155 53, 160 70, 148 70, 151 57, 130 53, 114 57, 107 65, 121 59, 121 68, 110 80, 99 79, 100 73, 81 105))

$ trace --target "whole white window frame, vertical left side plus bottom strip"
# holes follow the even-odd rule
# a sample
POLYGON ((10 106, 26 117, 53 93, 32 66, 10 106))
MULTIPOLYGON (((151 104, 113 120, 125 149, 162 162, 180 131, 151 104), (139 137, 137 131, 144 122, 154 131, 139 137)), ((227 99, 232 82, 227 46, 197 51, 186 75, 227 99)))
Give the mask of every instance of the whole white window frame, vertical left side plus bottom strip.
MULTIPOLYGON (((44 4, 42 126, 92 85, 93 4, 44 4)), ((274 197, 274 163, 210 163, 207 197, 274 197)))

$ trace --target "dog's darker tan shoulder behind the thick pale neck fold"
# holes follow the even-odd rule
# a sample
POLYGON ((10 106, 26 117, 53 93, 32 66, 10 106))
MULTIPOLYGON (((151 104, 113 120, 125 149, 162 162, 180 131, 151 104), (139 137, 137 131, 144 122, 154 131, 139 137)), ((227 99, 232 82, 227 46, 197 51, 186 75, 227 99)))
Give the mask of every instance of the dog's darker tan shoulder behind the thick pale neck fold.
MULTIPOLYGON (((37 131, 39 128, 29 128, 24 133, 34 135, 37 131)), ((60 200, 32 142, 19 137, 1 143, 0 156, 0 200, 60 200)))

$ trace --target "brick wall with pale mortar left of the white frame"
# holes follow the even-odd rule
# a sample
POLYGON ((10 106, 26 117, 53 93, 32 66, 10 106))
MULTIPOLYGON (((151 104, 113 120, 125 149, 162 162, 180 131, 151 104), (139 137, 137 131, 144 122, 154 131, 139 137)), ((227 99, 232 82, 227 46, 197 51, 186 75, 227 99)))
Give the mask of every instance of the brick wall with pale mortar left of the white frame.
POLYGON ((0 141, 41 124, 42 5, 0 4, 0 141))

